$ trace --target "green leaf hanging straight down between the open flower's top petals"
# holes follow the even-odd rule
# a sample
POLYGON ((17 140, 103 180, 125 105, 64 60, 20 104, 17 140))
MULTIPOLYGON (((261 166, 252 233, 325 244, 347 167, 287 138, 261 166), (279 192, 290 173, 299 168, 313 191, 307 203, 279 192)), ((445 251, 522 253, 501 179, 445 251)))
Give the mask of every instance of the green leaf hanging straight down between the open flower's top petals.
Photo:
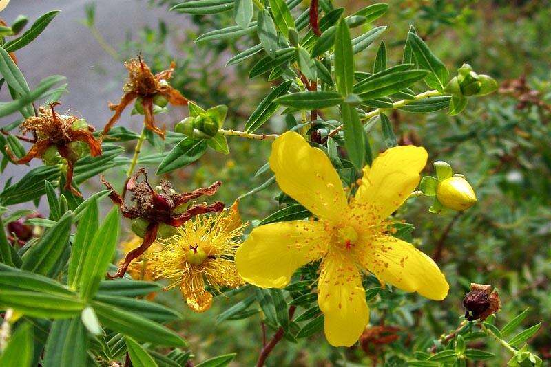
POLYGON ((364 126, 360 122, 355 107, 343 103, 341 105, 342 125, 344 130, 344 147, 352 164, 357 170, 364 168, 364 153, 366 142, 364 126))

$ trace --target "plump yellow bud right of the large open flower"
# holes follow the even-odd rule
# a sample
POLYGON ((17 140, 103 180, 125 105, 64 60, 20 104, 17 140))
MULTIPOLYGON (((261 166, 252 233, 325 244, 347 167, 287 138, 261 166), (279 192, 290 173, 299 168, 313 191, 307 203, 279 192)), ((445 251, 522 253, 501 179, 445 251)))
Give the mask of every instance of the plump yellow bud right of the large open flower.
POLYGON ((440 181, 436 190, 438 201, 446 208, 463 211, 475 205, 477 196, 467 180, 455 175, 440 181))

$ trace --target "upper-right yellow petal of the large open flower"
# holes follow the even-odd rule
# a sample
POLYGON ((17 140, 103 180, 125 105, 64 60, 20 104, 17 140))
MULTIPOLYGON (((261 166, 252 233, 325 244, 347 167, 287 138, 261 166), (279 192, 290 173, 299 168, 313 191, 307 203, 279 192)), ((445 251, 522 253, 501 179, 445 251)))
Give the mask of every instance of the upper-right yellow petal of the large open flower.
POLYGON ((376 221, 391 215, 419 184, 426 159, 425 148, 417 146, 396 146, 380 154, 364 168, 355 210, 370 212, 376 221))

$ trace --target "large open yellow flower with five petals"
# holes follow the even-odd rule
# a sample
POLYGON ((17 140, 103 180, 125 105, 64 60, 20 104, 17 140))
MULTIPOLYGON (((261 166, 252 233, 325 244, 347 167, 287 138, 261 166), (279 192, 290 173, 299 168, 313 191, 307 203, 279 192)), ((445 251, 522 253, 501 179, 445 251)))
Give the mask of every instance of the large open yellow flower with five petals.
POLYGON ((364 168, 348 202, 329 158, 298 133, 284 133, 273 142, 270 167, 282 191, 319 220, 255 228, 236 253, 240 276, 258 287, 282 288, 296 269, 321 258, 318 304, 333 346, 351 346, 368 324, 362 272, 375 274, 382 285, 444 299, 444 274, 413 245, 391 236, 385 221, 419 183, 426 159, 424 148, 388 149, 364 168))

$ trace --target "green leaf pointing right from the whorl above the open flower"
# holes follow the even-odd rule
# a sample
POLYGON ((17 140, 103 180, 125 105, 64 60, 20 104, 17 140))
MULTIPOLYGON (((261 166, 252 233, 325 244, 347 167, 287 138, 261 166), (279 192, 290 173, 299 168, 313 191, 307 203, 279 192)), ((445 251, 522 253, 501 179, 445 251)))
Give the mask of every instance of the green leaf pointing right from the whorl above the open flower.
POLYGON ((421 80, 427 75, 425 70, 403 70, 404 65, 397 65, 362 80, 354 86, 356 93, 362 100, 373 100, 391 96, 391 94, 400 91, 417 80, 421 80))

